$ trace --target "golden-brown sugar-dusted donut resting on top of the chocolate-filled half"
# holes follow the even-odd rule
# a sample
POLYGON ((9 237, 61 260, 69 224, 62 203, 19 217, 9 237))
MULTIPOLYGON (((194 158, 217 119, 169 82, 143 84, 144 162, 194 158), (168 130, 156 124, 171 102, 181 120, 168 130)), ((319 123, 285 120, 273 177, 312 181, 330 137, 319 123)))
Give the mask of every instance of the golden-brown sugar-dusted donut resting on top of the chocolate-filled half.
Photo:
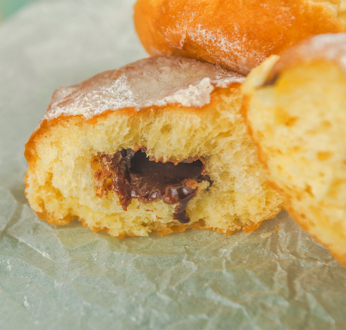
POLYGON ((135 27, 150 55, 178 55, 247 74, 270 55, 345 32, 345 1, 139 0, 135 27))

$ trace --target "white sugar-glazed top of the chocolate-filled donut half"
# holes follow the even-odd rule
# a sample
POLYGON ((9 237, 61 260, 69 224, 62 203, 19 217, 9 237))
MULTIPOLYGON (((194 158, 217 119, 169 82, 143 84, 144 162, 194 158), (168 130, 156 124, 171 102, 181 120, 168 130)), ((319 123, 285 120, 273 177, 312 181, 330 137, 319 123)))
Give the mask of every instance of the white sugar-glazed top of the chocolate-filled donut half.
POLYGON ((80 84, 59 87, 42 121, 60 115, 83 115, 90 119, 107 110, 135 107, 139 111, 167 103, 200 107, 210 102, 215 87, 226 88, 244 79, 242 75, 194 59, 149 57, 99 73, 80 84))

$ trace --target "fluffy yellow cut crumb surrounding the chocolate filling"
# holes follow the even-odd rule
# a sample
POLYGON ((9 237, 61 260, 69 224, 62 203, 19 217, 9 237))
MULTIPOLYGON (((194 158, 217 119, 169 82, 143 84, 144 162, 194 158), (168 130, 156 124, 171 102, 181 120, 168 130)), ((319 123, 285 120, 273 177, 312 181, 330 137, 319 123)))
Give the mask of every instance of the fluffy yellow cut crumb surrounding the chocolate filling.
POLYGON ((281 199, 266 182, 266 169, 240 114, 239 86, 215 88, 202 107, 167 104, 43 121, 26 145, 30 206, 50 223, 78 218, 116 237, 257 228, 281 210, 281 199), (114 175, 105 175, 101 167, 111 167, 116 155, 129 149, 156 165, 197 164, 197 173, 180 178, 180 184, 189 180, 180 188, 193 190, 183 221, 174 216, 179 202, 148 196, 121 201, 114 175))

